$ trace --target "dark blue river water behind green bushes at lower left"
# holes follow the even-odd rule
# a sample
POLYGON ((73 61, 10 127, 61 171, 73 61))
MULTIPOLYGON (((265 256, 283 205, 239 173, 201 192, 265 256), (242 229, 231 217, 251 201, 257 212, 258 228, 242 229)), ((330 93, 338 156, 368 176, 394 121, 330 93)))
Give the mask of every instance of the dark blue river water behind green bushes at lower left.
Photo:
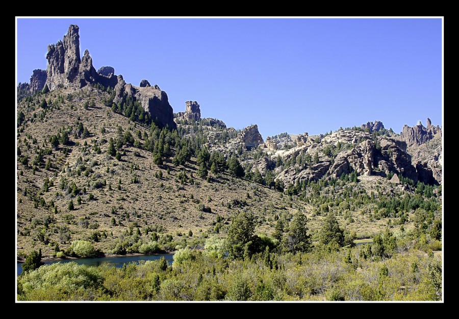
MULTIPOLYGON (((110 265, 113 265, 117 268, 121 268, 123 264, 128 264, 130 262, 139 263, 140 260, 158 260, 161 257, 166 258, 169 264, 172 263, 173 254, 160 254, 160 255, 150 255, 150 256, 119 256, 119 257, 100 257, 100 258, 80 258, 80 259, 64 259, 64 260, 43 260, 45 265, 53 264, 56 262, 70 262, 74 261, 80 265, 87 266, 98 266, 105 262, 108 262, 110 265)), ((17 262, 17 276, 22 273, 22 262, 17 262)))

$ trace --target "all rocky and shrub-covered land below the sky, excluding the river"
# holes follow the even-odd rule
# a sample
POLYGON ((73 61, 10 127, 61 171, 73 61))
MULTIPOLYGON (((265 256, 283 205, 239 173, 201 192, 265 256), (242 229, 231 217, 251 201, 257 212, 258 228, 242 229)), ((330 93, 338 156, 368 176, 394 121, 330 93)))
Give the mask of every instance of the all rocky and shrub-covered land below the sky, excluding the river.
POLYGON ((429 119, 263 139, 96 71, 78 26, 46 58, 17 88, 19 301, 442 300, 429 119), (164 252, 172 265, 41 265, 164 252))

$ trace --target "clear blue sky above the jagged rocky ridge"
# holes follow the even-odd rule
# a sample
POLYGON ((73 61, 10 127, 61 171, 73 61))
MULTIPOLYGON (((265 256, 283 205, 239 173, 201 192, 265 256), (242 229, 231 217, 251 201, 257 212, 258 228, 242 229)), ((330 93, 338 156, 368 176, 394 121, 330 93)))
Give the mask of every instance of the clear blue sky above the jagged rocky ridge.
POLYGON ((442 125, 441 19, 17 19, 17 82, 46 69, 47 44, 80 27, 81 54, 133 85, 166 91, 174 112, 263 138, 381 120, 442 125))

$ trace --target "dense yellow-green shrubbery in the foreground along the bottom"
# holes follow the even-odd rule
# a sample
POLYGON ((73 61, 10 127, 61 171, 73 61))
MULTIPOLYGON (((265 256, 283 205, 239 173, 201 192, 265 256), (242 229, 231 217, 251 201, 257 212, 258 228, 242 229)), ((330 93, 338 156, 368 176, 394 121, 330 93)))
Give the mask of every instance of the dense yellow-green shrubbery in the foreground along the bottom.
MULTIPOLYGON (((182 249, 165 260, 87 267, 45 265, 18 279, 19 300, 440 300, 441 264, 417 250, 389 259, 363 245, 339 251, 216 258, 182 249), (272 268, 266 263, 271 260, 272 268), (273 262, 275 261, 275 262, 273 262)), ((213 250, 218 239, 206 245, 213 250)), ((215 250, 214 250, 215 251, 215 250)))

